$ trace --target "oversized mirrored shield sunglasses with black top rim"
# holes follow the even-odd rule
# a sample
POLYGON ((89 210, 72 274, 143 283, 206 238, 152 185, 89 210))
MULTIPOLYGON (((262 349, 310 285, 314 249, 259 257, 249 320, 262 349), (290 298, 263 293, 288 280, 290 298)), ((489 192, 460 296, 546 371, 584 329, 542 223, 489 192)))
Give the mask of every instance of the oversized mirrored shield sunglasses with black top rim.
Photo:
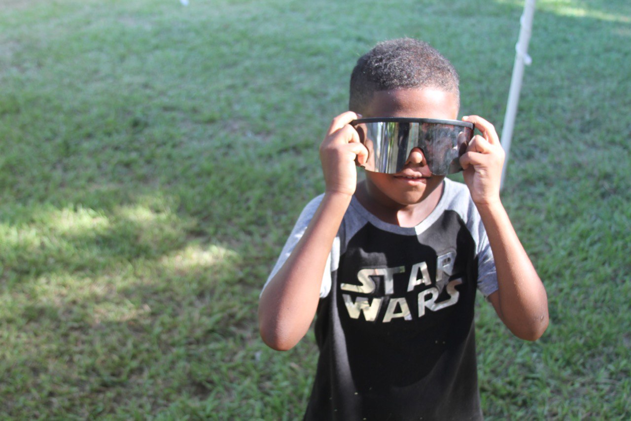
POLYGON ((473 123, 457 120, 374 117, 351 122, 369 151, 364 169, 395 174, 420 148, 433 175, 463 170, 459 158, 473 138, 473 123))

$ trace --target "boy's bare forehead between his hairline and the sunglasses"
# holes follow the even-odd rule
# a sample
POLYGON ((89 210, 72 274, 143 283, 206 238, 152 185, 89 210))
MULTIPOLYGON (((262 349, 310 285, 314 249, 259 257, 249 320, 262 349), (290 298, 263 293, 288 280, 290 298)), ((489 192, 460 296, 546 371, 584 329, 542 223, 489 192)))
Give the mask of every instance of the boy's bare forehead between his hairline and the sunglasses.
POLYGON ((458 97, 437 88, 377 91, 363 109, 363 117, 451 119, 458 116, 458 97))

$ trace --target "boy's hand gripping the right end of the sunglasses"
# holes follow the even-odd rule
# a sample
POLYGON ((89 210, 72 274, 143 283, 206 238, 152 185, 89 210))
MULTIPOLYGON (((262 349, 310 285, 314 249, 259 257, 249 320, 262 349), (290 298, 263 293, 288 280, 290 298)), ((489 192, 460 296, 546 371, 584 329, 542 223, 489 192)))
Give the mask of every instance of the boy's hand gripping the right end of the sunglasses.
POLYGON ((489 205, 500 200, 500 182, 504 165, 504 149, 493 124, 480 116, 463 117, 482 133, 476 134, 460 157, 464 182, 476 205, 489 205))

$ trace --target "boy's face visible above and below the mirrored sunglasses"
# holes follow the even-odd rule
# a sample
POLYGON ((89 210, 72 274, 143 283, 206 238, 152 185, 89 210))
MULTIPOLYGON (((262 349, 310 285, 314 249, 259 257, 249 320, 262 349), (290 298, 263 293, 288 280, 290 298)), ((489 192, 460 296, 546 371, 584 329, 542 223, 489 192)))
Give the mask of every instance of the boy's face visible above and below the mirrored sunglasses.
MULTIPOLYGON (((458 114, 458 98, 451 92, 437 88, 399 89, 376 92, 362 117, 413 117, 455 120, 458 114)), ((375 199, 394 205, 414 205, 440 186, 444 175, 432 175, 427 167, 423 151, 411 151, 403 170, 396 174, 366 172, 370 190, 380 194, 375 199), (392 203, 394 202, 394 203, 392 203)))

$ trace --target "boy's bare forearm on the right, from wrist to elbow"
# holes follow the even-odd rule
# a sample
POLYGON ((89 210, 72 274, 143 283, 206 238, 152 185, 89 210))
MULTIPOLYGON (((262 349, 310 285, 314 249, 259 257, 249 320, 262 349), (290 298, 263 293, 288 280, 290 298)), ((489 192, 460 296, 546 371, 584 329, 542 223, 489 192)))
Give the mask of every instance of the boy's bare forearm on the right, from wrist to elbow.
POLYGON ((493 251, 499 289, 490 297, 504 324, 522 339, 538 339, 548 326, 548 298, 500 201, 478 205, 493 251))

